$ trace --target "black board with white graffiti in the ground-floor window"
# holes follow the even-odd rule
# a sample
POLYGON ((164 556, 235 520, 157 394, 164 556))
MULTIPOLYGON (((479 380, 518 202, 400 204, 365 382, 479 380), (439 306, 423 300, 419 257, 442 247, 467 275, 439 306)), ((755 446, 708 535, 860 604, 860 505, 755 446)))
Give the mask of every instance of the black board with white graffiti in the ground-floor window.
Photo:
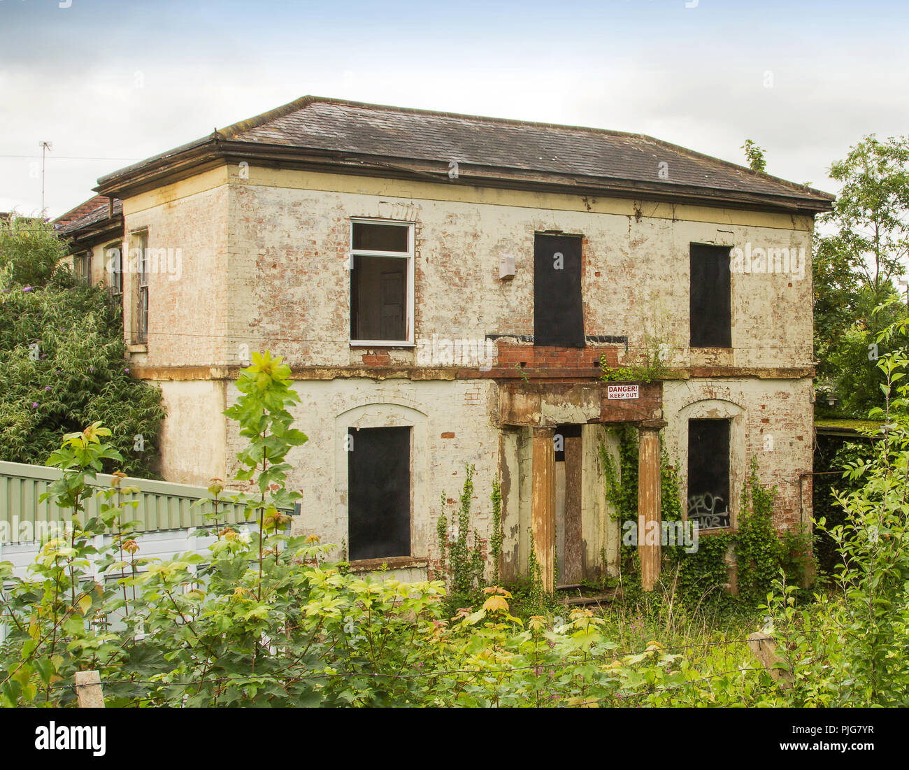
POLYGON ((729 526, 729 420, 688 421, 688 520, 729 526))

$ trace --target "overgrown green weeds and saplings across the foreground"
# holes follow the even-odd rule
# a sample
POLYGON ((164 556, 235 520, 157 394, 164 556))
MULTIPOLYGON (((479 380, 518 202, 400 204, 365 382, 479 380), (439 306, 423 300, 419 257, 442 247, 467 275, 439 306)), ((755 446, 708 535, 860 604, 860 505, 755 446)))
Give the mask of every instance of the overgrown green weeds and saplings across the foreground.
MULTIPOLYGON (((830 535, 843 557, 839 591, 803 605, 781 572, 756 614, 721 617, 719 605, 682 601, 684 563, 676 563, 656 591, 612 611, 561 608, 523 619, 504 587, 486 586, 481 605, 447 613, 442 581, 351 575, 325 563, 332 546, 285 534, 279 509, 295 495, 285 490, 284 459, 305 435, 286 411, 295 400, 289 370, 257 355, 228 410, 249 439, 234 480, 246 488, 213 491, 244 501, 254 524, 251 532, 219 527, 205 557, 144 558, 129 519, 133 490, 119 475, 96 493, 88 484, 105 461, 118 461, 111 436, 99 424, 65 436, 49 461, 64 477, 48 494, 72 512, 62 523, 72 528, 45 544, 28 578, 0 564, 9 586, 0 703, 71 705, 75 672, 96 669, 107 705, 137 707, 909 705, 909 386, 897 385, 909 359, 882 365, 891 389, 882 416, 892 427, 873 459, 849 468, 864 485, 838 496, 846 523, 830 535), (86 521, 92 494, 103 505, 86 521), (759 624, 776 639, 792 686, 755 665, 744 637, 759 624)), ((674 474, 664 466, 672 499, 674 474)), ((469 528, 472 480, 469 473, 449 555, 469 528)), ((621 481, 614 489, 624 495, 621 481)), ((740 559, 755 557, 750 599, 768 578, 756 557, 783 558, 784 547, 767 534, 773 490, 752 475, 746 495, 754 518, 735 545, 740 559)), ((666 515, 678 515, 674 499, 666 515)), ((466 579, 472 551, 458 547, 466 579)))

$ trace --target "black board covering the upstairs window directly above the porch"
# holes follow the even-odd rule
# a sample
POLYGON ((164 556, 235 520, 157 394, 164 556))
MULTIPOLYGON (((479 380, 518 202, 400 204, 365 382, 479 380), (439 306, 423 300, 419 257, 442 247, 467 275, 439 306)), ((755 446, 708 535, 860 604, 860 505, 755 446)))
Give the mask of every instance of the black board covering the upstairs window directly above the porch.
POLYGON ((534 345, 584 347, 577 235, 534 237, 534 345))

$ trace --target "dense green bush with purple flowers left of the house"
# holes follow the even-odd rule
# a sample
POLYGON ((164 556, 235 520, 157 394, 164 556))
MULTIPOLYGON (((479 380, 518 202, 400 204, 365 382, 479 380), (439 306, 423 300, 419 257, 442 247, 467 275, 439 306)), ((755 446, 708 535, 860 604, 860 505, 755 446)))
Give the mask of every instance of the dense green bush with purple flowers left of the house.
POLYGON ((50 226, 0 223, 0 247, 0 460, 43 464, 62 435, 103 421, 122 469, 154 476, 165 410, 129 374, 120 307, 58 265, 50 226))

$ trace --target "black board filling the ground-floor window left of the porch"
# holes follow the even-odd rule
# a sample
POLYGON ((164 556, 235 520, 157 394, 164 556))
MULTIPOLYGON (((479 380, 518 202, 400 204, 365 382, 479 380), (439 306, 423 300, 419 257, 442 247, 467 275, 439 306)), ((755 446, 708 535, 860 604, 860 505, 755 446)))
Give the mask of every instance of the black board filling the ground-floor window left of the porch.
POLYGON ((410 554, 410 428, 348 429, 351 561, 410 554))

